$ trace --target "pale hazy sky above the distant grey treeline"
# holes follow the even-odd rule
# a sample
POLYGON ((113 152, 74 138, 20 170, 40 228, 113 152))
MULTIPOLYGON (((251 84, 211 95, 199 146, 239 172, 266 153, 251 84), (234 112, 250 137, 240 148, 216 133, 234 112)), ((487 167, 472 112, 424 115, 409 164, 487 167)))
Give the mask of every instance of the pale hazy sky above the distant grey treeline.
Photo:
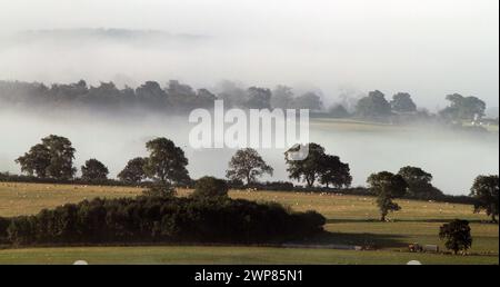
POLYGON ((341 88, 408 91, 431 109, 460 92, 498 107, 498 0, 0 0, 0 79, 231 79, 318 87, 331 98, 341 88), (176 49, 8 43, 17 31, 73 28, 210 40, 176 49))

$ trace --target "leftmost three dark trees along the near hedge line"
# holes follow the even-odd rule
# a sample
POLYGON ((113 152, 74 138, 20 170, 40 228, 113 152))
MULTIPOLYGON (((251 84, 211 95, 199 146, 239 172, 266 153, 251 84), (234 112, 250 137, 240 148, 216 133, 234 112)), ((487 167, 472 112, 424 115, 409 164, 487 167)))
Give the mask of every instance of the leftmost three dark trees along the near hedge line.
MULTIPOLYGON (((171 140, 157 138, 146 144, 150 152, 148 158, 136 158, 128 162, 119 174, 123 181, 136 184, 146 178, 171 185, 190 180, 188 159, 181 148, 171 140)), ((40 179, 69 180, 77 172, 73 167, 76 149, 68 138, 48 136, 30 148, 28 152, 16 159, 21 171, 40 179)), ((86 181, 103 181, 108 179, 108 168, 97 159, 89 159, 81 167, 81 179, 86 181)))

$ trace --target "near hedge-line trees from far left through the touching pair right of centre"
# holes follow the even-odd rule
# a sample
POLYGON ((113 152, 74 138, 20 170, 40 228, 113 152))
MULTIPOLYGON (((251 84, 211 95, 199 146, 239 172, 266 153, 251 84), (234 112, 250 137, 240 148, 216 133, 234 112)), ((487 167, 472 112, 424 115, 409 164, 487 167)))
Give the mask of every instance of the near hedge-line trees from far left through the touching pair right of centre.
MULTIPOLYGON (((30 148, 19 157, 16 162, 21 170, 40 179, 68 180, 74 177, 73 167, 76 149, 71 141, 64 137, 51 135, 30 148)), ((149 157, 137 157, 128 161, 118 174, 118 178, 128 184, 140 184, 146 179, 158 181, 161 185, 187 184, 190 181, 187 170, 188 159, 183 150, 171 140, 157 138, 146 144, 149 157)), ((324 148, 310 144, 309 157, 306 160, 293 161, 288 159, 290 178, 303 180, 312 187, 317 179, 322 185, 337 188, 349 187, 352 182, 348 164, 340 161, 337 156, 327 155, 324 148)), ((108 168, 97 159, 89 159, 81 167, 81 178, 87 181, 102 181, 108 178, 108 168)), ((256 182, 263 175, 272 176, 270 167, 257 150, 247 148, 236 152, 229 162, 227 178, 231 181, 246 181, 247 185, 256 182)))

